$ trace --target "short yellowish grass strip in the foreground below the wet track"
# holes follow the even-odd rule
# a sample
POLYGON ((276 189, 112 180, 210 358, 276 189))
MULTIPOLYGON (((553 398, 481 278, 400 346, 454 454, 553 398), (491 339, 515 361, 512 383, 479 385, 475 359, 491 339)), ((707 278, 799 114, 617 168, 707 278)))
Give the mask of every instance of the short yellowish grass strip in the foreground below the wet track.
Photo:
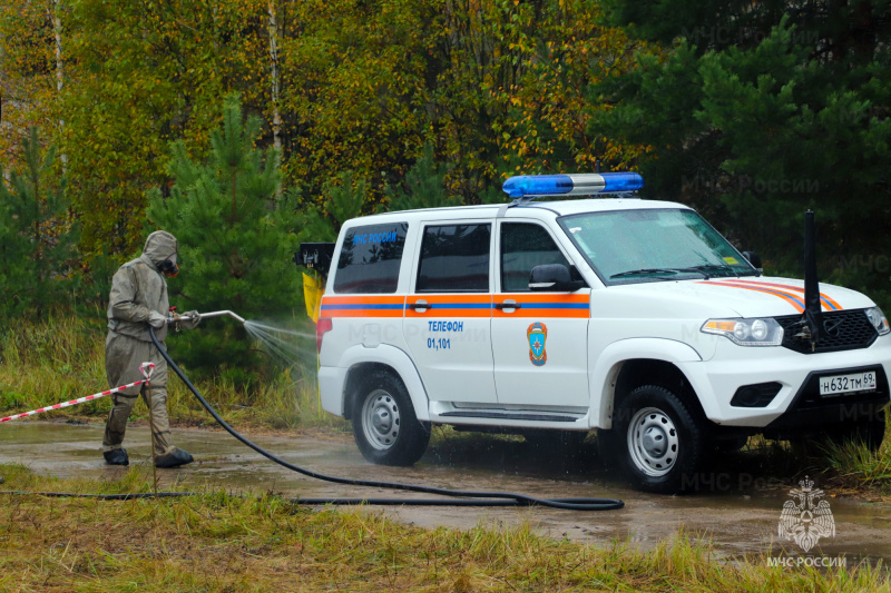
MULTIPOLYGON (((2 466, 17 491, 147 492, 2 466)), ((531 516, 531 515, 530 515, 531 516)), ((515 528, 423 530, 362 508, 294 505, 274 494, 99 502, 14 495, 0 506, 4 591, 891 591, 869 565, 783 569, 722 559, 679 532, 652 552, 515 528)))

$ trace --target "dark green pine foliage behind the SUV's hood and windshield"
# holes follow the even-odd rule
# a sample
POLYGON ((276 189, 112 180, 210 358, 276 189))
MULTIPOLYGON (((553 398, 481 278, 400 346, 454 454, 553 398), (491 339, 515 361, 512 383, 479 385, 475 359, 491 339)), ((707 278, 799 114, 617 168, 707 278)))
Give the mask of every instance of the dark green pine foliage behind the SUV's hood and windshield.
POLYGON ((821 279, 891 304, 891 6, 607 0, 659 55, 594 89, 591 128, 648 145, 648 197, 706 210, 768 271, 801 274, 817 215, 821 279))

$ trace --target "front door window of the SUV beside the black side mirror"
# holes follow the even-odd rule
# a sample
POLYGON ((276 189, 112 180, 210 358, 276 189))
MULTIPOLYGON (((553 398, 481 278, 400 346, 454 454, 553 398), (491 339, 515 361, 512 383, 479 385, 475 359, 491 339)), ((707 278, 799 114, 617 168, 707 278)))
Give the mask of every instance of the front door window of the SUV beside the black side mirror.
POLYGON ((570 268, 569 261, 542 227, 523 223, 501 225, 502 291, 528 293, 529 274, 533 267, 544 264, 562 264, 570 268))

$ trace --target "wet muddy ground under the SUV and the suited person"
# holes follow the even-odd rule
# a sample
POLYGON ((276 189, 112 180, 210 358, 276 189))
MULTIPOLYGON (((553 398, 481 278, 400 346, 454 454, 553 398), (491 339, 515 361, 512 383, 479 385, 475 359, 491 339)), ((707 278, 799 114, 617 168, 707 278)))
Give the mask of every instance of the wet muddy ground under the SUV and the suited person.
MULTIPOLYGON (((0 463, 21 463, 33 471, 60 477, 117 480, 126 470, 106 466, 99 443, 104 426, 50 422, 16 422, 0 426, 0 463)), ((288 472, 246 448, 222 432, 175 429, 177 445, 196 463, 159 471, 163 487, 187 490, 195 485, 223 486, 232 492, 275 491, 300 497, 407 497, 409 493, 360 488, 312 480, 288 472)), ((134 464, 150 477, 148 431, 130 427, 126 446, 134 464)), ((643 550, 654 547, 682 528, 693 537, 711 540, 724 554, 801 556, 791 541, 777 537, 790 483, 767 482, 752 472, 732 467, 701 476, 701 492, 662 496, 629 490, 582 448, 581 459, 565 449, 491 436, 439 441, 413 467, 371 465, 352 441, 325 437, 252 437, 286 461, 331 475, 428 484, 446 488, 507 491, 540 497, 601 496, 625 501, 621 511, 580 513, 548 508, 385 507, 400 521, 434 527, 472 527, 480 521, 512 525, 529 521, 551 537, 605 544, 618 538, 643 550)), ((738 465, 738 464, 736 464, 738 465)), ((2 486, 0 486, 1 488, 2 486)), ((828 491, 835 536, 823 537, 810 555, 846 556, 851 566, 861 560, 891 561, 891 506, 833 497, 828 491)), ((428 496, 428 495, 417 495, 428 496)))

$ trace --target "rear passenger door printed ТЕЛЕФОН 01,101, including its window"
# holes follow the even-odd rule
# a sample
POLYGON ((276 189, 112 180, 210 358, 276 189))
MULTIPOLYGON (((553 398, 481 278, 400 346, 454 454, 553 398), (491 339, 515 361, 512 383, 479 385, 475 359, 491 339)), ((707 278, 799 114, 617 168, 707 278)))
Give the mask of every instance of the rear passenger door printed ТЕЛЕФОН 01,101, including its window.
POLYGON ((490 220, 422 225, 403 324, 431 402, 497 401, 491 235, 490 220))

